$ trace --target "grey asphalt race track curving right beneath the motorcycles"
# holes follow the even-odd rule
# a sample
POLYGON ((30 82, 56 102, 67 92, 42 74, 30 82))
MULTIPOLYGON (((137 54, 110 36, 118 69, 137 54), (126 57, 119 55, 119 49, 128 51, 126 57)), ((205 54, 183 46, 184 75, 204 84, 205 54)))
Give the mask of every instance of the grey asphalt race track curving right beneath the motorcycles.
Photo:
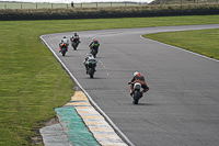
MULTIPOLYGON (((219 61, 140 35, 216 29, 214 25, 162 26, 77 32, 78 50, 58 53, 59 33, 43 38, 93 101, 136 146, 216 146, 219 144, 219 61), (92 37, 100 43, 90 79, 82 64, 92 37), (128 81, 138 70, 150 90, 131 103, 128 81)), ((174 37, 174 36, 173 36, 174 37)))

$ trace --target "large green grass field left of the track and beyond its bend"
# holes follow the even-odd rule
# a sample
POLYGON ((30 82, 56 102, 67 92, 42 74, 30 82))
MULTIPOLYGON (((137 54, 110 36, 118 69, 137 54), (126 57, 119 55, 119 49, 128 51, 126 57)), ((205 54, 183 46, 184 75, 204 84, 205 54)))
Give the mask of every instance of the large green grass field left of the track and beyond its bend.
MULTIPOLYGON (((31 137, 37 135, 35 132, 44 126, 43 122, 55 116, 54 108, 64 105, 73 94, 72 80, 41 43, 41 35, 88 30, 215 24, 218 20, 219 15, 0 21, 0 145, 32 145, 31 137)), ((205 40, 208 45, 208 37, 205 40)))

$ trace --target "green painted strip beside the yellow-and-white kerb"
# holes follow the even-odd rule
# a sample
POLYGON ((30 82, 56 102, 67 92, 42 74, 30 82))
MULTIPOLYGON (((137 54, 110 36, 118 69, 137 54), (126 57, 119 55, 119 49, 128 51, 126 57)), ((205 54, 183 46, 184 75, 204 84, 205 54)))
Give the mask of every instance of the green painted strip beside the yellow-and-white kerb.
POLYGON ((73 146, 100 146, 73 106, 56 108, 55 112, 73 146))

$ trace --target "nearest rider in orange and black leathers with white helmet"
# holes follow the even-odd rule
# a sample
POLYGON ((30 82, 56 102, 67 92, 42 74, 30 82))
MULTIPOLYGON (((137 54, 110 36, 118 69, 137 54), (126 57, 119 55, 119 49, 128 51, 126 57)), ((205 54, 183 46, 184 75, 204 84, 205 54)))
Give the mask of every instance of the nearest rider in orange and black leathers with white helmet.
POLYGON ((145 77, 140 72, 138 72, 138 71, 134 72, 134 77, 130 80, 130 90, 131 90, 130 91, 130 96, 131 97, 132 97, 132 93, 134 93, 134 83, 135 82, 139 82, 141 85, 141 88, 143 88, 143 90, 141 91, 141 97, 142 97, 143 93, 149 90, 149 87, 146 83, 145 77))

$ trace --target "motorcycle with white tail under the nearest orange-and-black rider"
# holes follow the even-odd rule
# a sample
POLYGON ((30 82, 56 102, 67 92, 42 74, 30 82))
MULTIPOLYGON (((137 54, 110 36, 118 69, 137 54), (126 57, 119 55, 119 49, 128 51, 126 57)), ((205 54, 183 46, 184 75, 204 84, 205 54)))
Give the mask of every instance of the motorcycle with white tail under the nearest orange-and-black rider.
MULTIPOLYGON (((128 82, 128 85, 131 85, 131 82, 128 82)), ((134 99, 132 103, 138 104, 139 99, 142 97, 142 94, 141 94, 141 90, 142 90, 141 83, 134 82, 132 86, 134 86, 134 93, 131 96, 132 99, 134 99)))

